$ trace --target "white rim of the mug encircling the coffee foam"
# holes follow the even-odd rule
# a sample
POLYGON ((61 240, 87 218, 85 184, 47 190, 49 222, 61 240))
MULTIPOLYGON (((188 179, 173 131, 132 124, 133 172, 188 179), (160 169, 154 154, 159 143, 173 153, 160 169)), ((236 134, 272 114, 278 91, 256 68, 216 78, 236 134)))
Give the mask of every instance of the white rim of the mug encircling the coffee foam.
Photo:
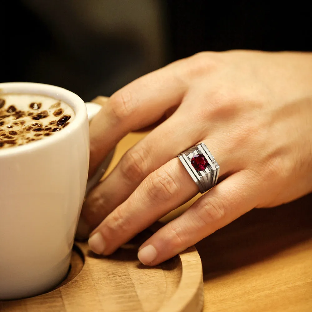
POLYGON ((62 129, 62 131, 56 135, 51 135, 46 139, 37 140, 20 146, 12 146, 6 149, 0 149, 0 158, 12 156, 15 154, 33 152, 34 150, 46 148, 47 146, 56 144, 57 142, 67 137, 71 132, 75 132, 75 130, 77 130, 87 119, 87 109, 85 102, 76 93, 62 87, 37 82, 0 83, 0 97, 2 94, 9 93, 45 95, 55 98, 56 100, 61 100, 74 110, 75 118, 65 129, 62 129))

